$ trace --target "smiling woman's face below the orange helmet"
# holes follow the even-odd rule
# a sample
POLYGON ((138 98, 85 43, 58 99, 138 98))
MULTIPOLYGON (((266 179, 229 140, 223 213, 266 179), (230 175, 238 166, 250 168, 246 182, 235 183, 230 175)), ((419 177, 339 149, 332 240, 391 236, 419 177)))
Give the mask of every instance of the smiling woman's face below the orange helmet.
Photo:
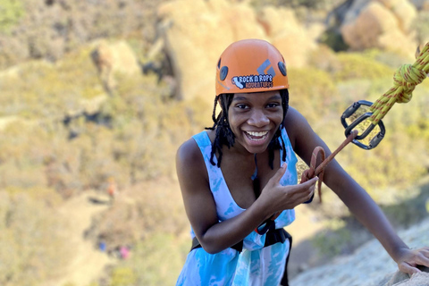
POLYGON ((283 119, 280 91, 234 94, 228 109, 234 147, 262 153, 273 139, 283 119))

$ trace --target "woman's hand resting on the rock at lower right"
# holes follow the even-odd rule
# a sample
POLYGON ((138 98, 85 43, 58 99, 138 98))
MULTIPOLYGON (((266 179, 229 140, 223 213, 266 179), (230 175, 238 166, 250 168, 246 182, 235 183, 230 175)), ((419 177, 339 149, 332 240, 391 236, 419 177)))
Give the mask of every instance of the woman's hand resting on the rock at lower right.
POLYGON ((412 275, 421 272, 417 265, 429 267, 429 247, 418 249, 404 249, 397 261, 400 272, 412 275))

